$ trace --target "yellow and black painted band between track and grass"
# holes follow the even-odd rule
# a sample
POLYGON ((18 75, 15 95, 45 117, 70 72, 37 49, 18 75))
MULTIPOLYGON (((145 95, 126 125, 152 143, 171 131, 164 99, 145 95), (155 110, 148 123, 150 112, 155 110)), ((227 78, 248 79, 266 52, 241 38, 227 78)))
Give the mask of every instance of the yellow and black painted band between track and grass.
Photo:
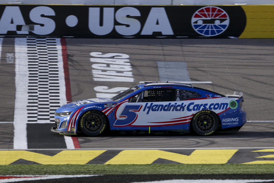
POLYGON ((274 164, 274 149, 0 150, 9 164, 274 164))

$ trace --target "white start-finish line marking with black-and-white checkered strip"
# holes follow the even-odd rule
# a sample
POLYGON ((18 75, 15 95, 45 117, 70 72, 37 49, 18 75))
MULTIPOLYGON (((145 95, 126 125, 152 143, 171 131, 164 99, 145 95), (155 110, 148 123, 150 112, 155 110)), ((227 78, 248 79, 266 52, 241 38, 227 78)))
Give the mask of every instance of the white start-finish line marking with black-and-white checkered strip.
POLYGON ((13 147, 27 149, 27 123, 54 124, 55 110, 67 103, 61 39, 15 38, 15 58, 13 147))

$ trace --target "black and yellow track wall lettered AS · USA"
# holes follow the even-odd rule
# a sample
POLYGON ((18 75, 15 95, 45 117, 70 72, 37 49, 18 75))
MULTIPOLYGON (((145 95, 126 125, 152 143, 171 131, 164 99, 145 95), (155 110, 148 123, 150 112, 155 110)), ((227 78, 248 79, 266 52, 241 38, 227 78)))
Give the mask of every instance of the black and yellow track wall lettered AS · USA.
POLYGON ((273 38, 274 5, 0 5, 0 36, 273 38))

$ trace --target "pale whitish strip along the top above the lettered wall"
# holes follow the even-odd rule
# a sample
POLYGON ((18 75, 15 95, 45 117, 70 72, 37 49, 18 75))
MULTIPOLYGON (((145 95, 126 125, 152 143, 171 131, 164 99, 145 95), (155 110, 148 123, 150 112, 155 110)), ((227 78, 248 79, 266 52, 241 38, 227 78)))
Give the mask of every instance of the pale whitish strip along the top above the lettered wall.
POLYGON ((273 0, 1 0, 1 4, 80 4, 80 5, 272 5, 273 0))

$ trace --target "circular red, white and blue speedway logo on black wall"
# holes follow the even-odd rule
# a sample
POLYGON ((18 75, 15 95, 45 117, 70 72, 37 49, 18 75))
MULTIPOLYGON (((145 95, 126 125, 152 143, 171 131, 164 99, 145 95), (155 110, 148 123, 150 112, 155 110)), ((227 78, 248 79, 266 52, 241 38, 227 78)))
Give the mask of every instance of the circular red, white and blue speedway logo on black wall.
POLYGON ((207 6, 198 9, 193 14, 191 25, 201 35, 215 36, 227 29, 229 17, 223 9, 215 6, 207 6))

